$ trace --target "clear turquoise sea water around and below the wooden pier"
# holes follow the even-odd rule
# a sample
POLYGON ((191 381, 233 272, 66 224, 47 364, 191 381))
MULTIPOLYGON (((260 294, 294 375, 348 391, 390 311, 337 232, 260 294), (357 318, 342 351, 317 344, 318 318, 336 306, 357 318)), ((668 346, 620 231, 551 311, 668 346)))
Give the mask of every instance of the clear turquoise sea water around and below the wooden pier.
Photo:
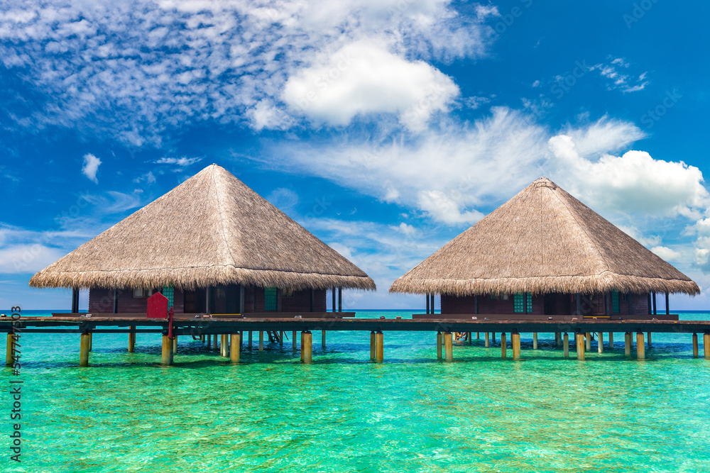
POLYGON ((22 335, 21 376, 2 375, 0 470, 710 468, 710 361, 692 358, 690 335, 654 335, 648 360, 638 361, 623 355, 617 333, 616 350, 600 355, 593 342, 578 362, 564 359, 552 337, 540 335, 534 351, 523 334, 520 362, 510 348, 500 359, 499 340, 488 349, 480 340, 454 347, 452 363, 437 361, 435 333, 384 337, 385 362, 377 364, 369 333, 329 332, 322 350, 314 332, 313 365, 300 365, 290 341, 263 353, 245 347, 234 366, 184 338, 175 365, 161 367, 160 335, 138 334, 129 354, 127 335, 97 334, 92 367, 82 369, 79 335, 22 335), (23 380, 21 464, 7 448, 9 379, 23 380))

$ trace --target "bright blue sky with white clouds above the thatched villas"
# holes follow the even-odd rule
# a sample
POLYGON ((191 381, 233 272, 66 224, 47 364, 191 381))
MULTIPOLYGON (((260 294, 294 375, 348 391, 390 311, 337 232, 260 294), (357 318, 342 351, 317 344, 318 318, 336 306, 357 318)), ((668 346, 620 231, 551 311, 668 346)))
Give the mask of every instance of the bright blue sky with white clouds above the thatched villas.
POLYGON ((69 308, 31 275, 213 162, 350 307, 422 306, 393 279, 542 175, 710 286, 708 4, 97 3, 0 1, 0 307, 69 308))

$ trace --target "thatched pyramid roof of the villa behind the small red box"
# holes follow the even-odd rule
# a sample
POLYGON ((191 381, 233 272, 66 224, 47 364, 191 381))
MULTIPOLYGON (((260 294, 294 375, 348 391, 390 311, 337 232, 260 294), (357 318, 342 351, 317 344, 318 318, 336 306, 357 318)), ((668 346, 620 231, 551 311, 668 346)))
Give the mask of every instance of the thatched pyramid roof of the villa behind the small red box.
POLYGON ((361 269, 217 165, 32 277, 35 287, 375 289, 361 269))

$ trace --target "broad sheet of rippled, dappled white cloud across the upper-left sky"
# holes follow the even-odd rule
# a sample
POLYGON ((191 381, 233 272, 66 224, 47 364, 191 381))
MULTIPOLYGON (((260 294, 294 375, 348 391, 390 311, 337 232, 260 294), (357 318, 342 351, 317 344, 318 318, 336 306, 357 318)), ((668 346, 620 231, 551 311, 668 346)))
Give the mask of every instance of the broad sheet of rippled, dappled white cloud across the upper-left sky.
MULTIPOLYGON (((412 58, 486 54, 493 30, 483 22, 491 14, 459 15, 449 0, 28 0, 22 9, 0 6, 0 63, 35 95, 14 104, 12 126, 65 126, 159 145, 166 128, 204 121, 293 126, 281 98, 285 82, 327 65, 327 51, 364 39, 379 41, 401 67, 445 84, 412 58)), ((365 60, 376 72, 385 57, 365 60)), ((444 98, 453 90, 445 85, 444 98)), ((391 90, 388 82, 383 87, 391 90)), ((325 96, 323 107, 335 101, 325 96)), ((406 106, 400 99, 387 110, 401 114, 406 106)), ((435 101, 424 115, 441 107, 435 101)), ((354 113, 371 110, 378 108, 354 113)))

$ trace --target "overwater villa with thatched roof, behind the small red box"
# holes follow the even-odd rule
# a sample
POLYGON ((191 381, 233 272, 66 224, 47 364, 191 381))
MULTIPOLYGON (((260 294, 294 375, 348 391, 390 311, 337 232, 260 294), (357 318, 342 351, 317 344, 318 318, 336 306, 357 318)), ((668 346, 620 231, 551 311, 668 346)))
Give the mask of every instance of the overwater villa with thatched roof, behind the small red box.
POLYGON ((367 274, 218 165, 208 166, 35 274, 89 289, 89 312, 324 312, 326 290, 375 289, 367 274))

